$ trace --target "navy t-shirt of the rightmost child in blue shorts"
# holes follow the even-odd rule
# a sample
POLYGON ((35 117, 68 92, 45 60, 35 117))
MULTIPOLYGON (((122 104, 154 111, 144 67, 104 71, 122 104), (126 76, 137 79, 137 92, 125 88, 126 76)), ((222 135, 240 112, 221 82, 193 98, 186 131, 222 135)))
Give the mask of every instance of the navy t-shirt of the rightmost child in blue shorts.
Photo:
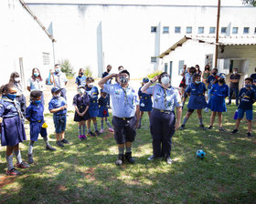
POLYGON ((256 100, 256 92, 253 88, 247 89, 242 87, 239 93, 240 105, 239 108, 243 110, 252 110, 252 104, 256 100))

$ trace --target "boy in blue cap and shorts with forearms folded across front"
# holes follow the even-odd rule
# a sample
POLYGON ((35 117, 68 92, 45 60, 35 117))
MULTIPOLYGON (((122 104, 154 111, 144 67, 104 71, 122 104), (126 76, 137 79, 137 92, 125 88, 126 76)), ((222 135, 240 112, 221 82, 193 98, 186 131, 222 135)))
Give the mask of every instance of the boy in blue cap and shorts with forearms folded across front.
POLYGON ((51 88, 52 98, 48 103, 50 113, 53 113, 53 122, 55 126, 56 144, 63 148, 69 141, 64 138, 67 122, 67 102, 64 97, 60 97, 58 87, 51 88))

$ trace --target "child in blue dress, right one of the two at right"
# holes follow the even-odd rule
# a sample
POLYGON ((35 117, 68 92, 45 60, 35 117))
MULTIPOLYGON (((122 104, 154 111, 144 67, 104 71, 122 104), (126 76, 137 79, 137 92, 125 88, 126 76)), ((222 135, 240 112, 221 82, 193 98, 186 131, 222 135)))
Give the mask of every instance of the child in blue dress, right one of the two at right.
POLYGON ((209 94, 211 94, 212 97, 210 97, 208 108, 211 109, 212 113, 208 129, 212 129, 216 113, 218 113, 219 131, 224 131, 222 128, 222 112, 227 111, 225 97, 229 97, 229 86, 226 85, 225 79, 225 74, 220 73, 217 83, 212 85, 210 89, 209 94))

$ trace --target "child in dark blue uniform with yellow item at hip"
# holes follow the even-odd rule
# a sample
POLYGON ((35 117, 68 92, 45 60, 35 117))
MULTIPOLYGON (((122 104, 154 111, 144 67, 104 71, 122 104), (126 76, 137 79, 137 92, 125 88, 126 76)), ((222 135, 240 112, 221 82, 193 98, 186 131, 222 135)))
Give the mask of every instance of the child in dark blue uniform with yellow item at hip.
POLYGON ((55 151, 56 148, 52 148, 48 143, 48 132, 47 128, 43 128, 44 124, 44 106, 41 102, 41 91, 32 91, 30 93, 31 103, 26 109, 26 118, 30 122, 30 142, 28 147, 28 164, 34 163, 33 159, 33 147, 39 134, 44 138, 46 143, 46 149, 55 151))

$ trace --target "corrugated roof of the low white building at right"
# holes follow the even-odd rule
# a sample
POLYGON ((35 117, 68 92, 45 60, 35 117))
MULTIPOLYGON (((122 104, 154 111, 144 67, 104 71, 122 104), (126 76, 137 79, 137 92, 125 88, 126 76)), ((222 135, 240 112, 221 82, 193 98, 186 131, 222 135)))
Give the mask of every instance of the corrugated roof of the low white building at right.
MULTIPOLYGON (((182 46, 187 40, 194 40, 198 43, 206 43, 210 45, 217 45, 215 43, 215 36, 184 36, 176 44, 170 46, 159 58, 163 58, 174 51, 177 46, 182 46)), ((219 36, 219 46, 255 46, 256 36, 219 36)))

